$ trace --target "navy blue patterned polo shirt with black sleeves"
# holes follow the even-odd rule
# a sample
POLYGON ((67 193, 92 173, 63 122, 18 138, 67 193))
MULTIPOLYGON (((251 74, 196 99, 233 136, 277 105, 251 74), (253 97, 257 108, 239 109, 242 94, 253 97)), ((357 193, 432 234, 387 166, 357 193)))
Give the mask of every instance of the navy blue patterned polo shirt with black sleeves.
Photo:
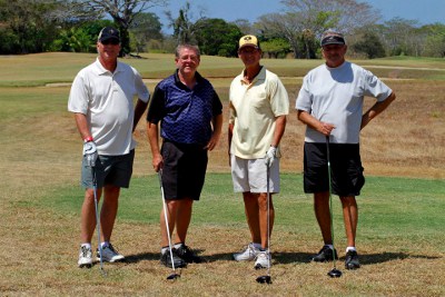
POLYGON ((192 90, 175 75, 160 81, 154 91, 147 121, 160 123, 161 137, 178 143, 207 145, 210 121, 222 113, 222 105, 211 83, 196 72, 192 90))

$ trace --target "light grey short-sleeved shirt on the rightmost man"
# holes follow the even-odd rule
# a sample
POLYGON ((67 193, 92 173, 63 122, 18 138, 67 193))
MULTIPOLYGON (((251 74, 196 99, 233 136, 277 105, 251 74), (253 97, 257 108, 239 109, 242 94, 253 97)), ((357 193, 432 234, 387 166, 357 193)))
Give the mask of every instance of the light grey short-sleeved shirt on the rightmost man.
MULTIPOLYGON (((333 123, 332 142, 358 143, 365 96, 384 101, 392 92, 376 76, 355 63, 345 61, 337 68, 322 65, 304 78, 296 109, 333 123)), ((323 143, 326 138, 307 126, 305 141, 323 143)))

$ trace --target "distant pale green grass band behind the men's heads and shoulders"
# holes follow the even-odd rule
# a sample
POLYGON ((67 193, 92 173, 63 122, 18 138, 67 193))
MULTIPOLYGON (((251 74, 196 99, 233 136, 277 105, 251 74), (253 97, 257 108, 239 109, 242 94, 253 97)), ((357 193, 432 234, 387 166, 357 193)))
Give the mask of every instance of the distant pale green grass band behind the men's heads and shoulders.
MULTIPOLYGON (((121 59, 142 75, 144 78, 165 78, 176 69, 174 55, 145 53, 144 59, 121 59)), ((0 63, 8 71, 0 73, 0 87, 37 87, 47 83, 72 82, 76 73, 96 59, 93 53, 49 52, 24 56, 0 56, 0 63)), ((445 60, 432 58, 394 57, 373 60, 353 60, 377 76, 439 79, 445 75, 445 60), (376 67, 408 68, 382 69, 376 67), (409 68, 417 68, 409 69, 409 68), (423 68, 433 68, 427 70, 423 68)), ((280 77, 303 77, 322 60, 263 59, 261 62, 280 77)), ((204 56, 199 71, 208 78, 233 78, 240 73, 243 65, 238 58, 204 56)))

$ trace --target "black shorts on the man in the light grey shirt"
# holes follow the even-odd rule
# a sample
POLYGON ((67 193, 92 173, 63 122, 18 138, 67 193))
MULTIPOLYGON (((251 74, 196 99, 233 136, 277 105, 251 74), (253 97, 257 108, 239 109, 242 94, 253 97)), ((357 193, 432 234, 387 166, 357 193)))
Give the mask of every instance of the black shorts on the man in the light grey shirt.
MULTIPOLYGON (((332 192, 340 197, 358 196, 365 185, 359 145, 330 143, 332 192)), ((329 190, 326 143, 305 142, 304 190, 329 190)))

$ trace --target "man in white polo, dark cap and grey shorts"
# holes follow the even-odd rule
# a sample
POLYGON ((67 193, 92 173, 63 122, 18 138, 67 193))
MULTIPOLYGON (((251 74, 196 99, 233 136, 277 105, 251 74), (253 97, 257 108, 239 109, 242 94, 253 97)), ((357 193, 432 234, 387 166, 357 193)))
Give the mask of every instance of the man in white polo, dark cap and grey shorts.
MULTIPOLYGON (((96 225, 93 177, 100 210, 103 261, 123 260, 110 237, 118 211, 120 188, 128 188, 136 141, 132 132, 145 112, 149 92, 138 71, 121 63, 119 31, 103 28, 97 41, 97 60, 79 71, 71 87, 68 110, 75 113, 83 140, 81 184, 86 188, 81 209, 79 267, 92 266, 91 237, 96 225), (134 108, 134 97, 138 100, 134 108)), ((100 255, 98 253, 97 257, 100 255)))

